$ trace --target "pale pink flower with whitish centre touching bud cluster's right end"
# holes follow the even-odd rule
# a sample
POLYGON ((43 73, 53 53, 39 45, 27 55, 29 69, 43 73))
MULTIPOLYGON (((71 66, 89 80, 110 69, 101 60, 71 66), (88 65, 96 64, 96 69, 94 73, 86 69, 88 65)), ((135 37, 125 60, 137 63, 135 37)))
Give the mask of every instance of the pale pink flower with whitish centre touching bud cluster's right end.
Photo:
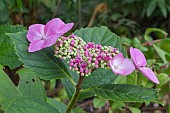
POLYGON ((113 57, 109 63, 112 71, 115 74, 124 76, 132 73, 135 70, 133 63, 129 59, 124 58, 122 53, 119 53, 113 57))

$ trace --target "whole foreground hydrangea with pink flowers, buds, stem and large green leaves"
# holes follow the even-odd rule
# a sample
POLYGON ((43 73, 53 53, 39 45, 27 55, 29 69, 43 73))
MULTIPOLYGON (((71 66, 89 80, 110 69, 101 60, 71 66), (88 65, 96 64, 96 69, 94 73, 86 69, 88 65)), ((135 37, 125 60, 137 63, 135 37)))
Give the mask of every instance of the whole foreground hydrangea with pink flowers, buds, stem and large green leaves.
POLYGON ((21 80, 17 87, 0 66, 0 105, 5 113, 70 113, 78 100, 92 96, 121 102, 160 103, 157 90, 115 82, 119 76, 140 71, 159 84, 139 49, 130 47, 127 51, 131 61, 125 57, 120 38, 107 27, 82 28, 66 34, 73 25, 55 18, 46 25, 31 25, 28 31, 5 34, 13 42, 18 62, 24 66, 18 71, 21 80), (39 78, 61 79, 69 104, 47 98, 39 78))

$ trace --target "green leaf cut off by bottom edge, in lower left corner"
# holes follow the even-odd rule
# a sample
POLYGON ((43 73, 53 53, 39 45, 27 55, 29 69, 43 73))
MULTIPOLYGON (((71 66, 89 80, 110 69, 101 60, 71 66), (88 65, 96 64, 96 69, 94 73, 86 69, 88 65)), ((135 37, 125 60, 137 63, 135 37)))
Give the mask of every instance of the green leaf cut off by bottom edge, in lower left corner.
POLYGON ((14 99, 5 113, 59 113, 50 104, 36 98, 21 97, 14 99))

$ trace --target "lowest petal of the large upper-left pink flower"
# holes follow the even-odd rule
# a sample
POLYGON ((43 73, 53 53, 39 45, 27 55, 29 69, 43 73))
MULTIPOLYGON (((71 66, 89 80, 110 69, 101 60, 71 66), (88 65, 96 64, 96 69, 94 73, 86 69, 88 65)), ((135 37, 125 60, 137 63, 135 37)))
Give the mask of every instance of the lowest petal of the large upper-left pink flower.
POLYGON ((28 51, 35 52, 35 51, 41 50, 43 44, 44 44, 44 40, 31 42, 28 47, 28 51))

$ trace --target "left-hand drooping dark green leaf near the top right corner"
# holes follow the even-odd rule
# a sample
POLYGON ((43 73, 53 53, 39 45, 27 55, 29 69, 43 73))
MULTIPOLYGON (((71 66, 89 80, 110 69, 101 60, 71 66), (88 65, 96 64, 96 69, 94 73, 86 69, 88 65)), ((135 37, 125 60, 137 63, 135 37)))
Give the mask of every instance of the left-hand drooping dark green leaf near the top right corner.
POLYGON ((155 10, 156 6, 157 6, 157 1, 156 0, 151 0, 149 2, 149 5, 148 5, 147 11, 146 11, 147 17, 150 17, 152 15, 152 13, 155 10))

